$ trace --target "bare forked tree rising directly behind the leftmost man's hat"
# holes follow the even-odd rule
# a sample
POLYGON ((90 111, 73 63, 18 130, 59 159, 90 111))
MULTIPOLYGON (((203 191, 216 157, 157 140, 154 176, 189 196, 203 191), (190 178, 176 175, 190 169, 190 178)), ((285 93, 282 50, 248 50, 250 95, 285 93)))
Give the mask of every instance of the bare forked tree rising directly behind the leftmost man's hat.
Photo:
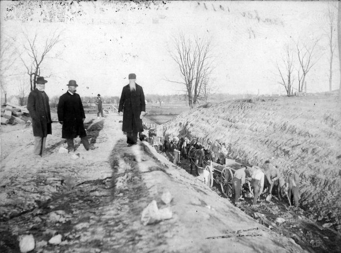
POLYGON ((31 91, 36 88, 36 80, 37 76, 40 76, 40 68, 41 64, 46 58, 46 55, 50 52, 50 50, 55 46, 58 42, 60 42, 60 32, 55 30, 45 41, 44 46, 40 48, 38 45, 37 37, 38 32, 36 31, 33 39, 29 38, 28 32, 24 32, 24 37, 26 39, 27 45, 24 45, 25 52, 29 56, 29 60, 24 61, 21 57, 22 62, 27 70, 27 74, 29 75, 30 89, 31 91))

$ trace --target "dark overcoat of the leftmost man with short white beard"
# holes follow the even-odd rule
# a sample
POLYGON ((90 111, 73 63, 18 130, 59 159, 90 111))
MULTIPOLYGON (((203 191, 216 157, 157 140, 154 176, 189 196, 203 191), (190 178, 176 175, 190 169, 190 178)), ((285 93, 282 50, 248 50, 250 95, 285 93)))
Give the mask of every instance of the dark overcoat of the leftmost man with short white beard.
POLYGON ((27 99, 27 110, 32 118, 33 136, 47 137, 52 134, 49 97, 45 92, 38 89, 31 91, 27 99))

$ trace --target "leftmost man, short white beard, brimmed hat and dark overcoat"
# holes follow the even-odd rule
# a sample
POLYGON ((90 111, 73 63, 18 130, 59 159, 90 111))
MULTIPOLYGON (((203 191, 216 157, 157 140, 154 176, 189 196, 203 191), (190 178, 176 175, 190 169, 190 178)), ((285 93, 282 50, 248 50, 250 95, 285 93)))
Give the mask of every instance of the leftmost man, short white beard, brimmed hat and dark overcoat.
POLYGON ((27 109, 32 118, 34 154, 39 156, 45 154, 46 137, 52 134, 49 97, 45 93, 47 82, 44 77, 37 77, 36 89, 29 93, 27 99, 27 109))

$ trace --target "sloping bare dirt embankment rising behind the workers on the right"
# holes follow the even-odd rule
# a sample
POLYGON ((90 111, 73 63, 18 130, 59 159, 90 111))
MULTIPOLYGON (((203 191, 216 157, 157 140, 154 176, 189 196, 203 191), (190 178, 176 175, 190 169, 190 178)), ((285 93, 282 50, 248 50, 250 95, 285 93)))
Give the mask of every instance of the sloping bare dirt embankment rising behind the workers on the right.
POLYGON ((226 101, 178 115, 158 131, 203 143, 219 138, 231 159, 270 160, 285 176, 298 172, 300 206, 312 219, 340 225, 341 108, 335 95, 226 101))

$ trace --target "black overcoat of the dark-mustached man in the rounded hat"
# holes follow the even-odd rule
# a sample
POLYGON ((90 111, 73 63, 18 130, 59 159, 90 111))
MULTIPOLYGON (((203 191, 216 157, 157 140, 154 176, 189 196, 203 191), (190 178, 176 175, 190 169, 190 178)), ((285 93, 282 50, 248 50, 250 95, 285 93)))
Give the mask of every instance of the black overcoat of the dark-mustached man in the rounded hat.
POLYGON ((57 114, 58 120, 63 121, 62 138, 86 137, 83 104, 77 93, 66 92, 59 97, 57 114))

